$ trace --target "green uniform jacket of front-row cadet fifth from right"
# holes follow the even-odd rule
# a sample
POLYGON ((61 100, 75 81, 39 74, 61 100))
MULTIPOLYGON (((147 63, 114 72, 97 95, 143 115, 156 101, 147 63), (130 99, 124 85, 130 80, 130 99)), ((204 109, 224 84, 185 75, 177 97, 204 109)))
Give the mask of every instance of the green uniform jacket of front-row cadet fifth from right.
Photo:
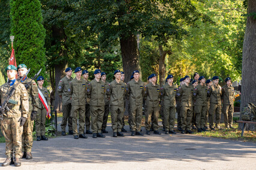
POLYGON ((176 105, 176 92, 177 88, 172 84, 172 86, 169 86, 169 83, 166 83, 163 85, 161 90, 161 101, 163 101, 163 105, 166 107, 175 107, 176 105))

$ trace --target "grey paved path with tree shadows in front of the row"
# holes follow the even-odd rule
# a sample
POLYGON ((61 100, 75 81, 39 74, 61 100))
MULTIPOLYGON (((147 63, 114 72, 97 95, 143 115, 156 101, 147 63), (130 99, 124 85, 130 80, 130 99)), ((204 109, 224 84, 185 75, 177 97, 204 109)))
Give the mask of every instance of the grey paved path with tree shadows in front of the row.
MULTIPOLYGON (((128 129, 128 126, 126 126, 128 129)), ((195 135, 145 135, 34 141, 19 169, 255 169, 256 144, 195 135)), ((0 162, 5 160, 0 144, 0 162)), ((14 169, 14 166, 1 169, 14 169)), ((17 169, 17 168, 16 168, 17 169)))

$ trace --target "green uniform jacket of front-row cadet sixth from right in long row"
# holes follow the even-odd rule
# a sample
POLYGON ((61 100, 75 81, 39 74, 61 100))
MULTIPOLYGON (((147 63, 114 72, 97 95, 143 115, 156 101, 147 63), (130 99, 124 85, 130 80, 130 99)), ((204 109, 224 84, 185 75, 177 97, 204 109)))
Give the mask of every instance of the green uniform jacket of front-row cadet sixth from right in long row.
POLYGON ((153 83, 148 83, 145 86, 145 105, 148 107, 159 107, 159 99, 160 99, 160 85, 153 83))

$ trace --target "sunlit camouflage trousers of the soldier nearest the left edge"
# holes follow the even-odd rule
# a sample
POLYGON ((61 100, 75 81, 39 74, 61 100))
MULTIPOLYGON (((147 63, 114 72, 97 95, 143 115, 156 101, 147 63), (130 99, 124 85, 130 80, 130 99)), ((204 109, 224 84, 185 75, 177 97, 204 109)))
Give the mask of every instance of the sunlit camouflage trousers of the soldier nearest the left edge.
POLYGON ((7 157, 22 157, 22 131, 18 120, 20 117, 5 117, 1 120, 1 130, 5 138, 5 154, 7 157))

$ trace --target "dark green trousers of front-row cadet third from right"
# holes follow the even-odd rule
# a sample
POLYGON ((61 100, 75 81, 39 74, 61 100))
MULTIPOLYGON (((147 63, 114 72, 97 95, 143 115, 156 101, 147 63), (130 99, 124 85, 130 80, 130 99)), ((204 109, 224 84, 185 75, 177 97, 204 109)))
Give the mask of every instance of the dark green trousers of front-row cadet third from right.
POLYGON ((195 105, 195 126, 198 129, 206 125, 207 106, 195 105))

